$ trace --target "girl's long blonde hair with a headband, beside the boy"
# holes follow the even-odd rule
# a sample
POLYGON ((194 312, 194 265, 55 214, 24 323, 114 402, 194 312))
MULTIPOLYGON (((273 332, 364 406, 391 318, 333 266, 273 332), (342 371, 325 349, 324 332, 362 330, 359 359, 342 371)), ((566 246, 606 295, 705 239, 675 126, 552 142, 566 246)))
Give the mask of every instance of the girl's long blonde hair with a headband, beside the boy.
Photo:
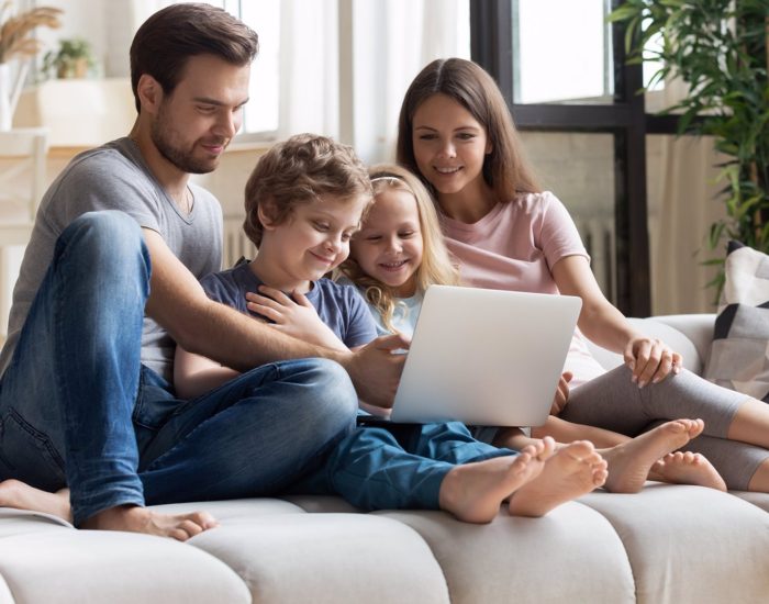
MULTIPOLYGON (((416 268, 416 293, 424 293, 428 286, 457 286, 459 270, 446 248, 441 232, 438 214, 427 189, 412 172, 394 164, 380 164, 369 168, 369 177, 374 187, 374 203, 377 197, 386 191, 404 191, 416 202, 422 233, 422 262, 416 268)), ((372 204, 374 205, 374 204, 372 204)), ((366 219, 364 217, 364 226, 366 219)), ((345 260, 339 270, 358 288, 364 298, 379 312, 382 323, 391 332, 392 317, 398 304, 398 297, 392 288, 368 276, 358 265, 353 255, 345 260)))

